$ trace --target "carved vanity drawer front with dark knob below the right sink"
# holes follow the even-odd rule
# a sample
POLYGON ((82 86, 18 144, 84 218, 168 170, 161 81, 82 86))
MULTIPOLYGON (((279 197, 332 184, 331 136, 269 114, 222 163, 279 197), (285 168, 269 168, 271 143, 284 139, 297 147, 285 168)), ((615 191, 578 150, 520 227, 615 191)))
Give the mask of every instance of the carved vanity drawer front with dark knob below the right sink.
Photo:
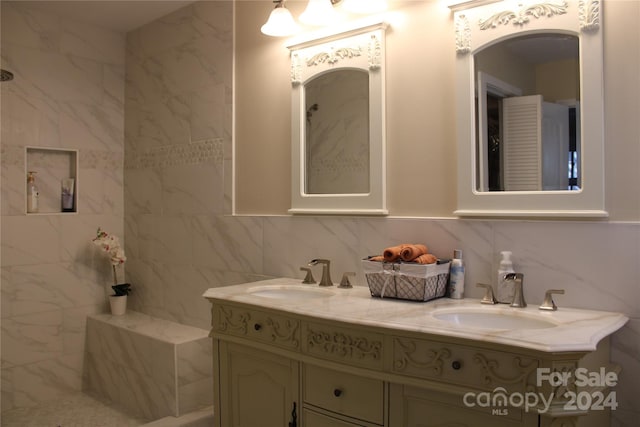
POLYGON ((515 353, 404 337, 393 338, 394 373, 474 389, 535 388, 539 360, 515 353))

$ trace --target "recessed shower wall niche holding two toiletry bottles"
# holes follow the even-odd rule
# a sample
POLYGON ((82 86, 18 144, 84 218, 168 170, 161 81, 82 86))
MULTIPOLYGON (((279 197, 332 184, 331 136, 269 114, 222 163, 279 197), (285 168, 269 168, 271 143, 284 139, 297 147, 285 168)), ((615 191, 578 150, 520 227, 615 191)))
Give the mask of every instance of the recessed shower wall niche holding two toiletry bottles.
POLYGON ((32 214, 78 212, 78 150, 25 148, 25 212, 32 214), (28 202, 27 179, 34 172, 38 190, 37 211, 28 202))

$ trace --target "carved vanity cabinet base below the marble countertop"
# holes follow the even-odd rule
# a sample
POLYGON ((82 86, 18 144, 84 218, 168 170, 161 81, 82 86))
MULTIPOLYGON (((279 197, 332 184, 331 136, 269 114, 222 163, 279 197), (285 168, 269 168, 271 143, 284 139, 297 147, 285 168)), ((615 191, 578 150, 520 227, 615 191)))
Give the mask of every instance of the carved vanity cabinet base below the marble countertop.
POLYGON ((608 411, 563 408, 574 384, 537 378, 610 369, 608 338, 594 352, 550 353, 207 298, 220 427, 608 425, 608 411), (541 404, 483 405, 496 393, 556 397, 540 414, 541 404))

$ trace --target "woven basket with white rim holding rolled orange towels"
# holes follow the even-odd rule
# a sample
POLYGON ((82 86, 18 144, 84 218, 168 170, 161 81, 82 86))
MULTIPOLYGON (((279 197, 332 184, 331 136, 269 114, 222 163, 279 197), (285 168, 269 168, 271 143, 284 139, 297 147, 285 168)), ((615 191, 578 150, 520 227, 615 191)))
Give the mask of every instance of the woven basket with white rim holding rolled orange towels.
POLYGON ((362 260, 371 296, 429 301, 443 297, 449 262, 442 264, 387 263, 362 260))

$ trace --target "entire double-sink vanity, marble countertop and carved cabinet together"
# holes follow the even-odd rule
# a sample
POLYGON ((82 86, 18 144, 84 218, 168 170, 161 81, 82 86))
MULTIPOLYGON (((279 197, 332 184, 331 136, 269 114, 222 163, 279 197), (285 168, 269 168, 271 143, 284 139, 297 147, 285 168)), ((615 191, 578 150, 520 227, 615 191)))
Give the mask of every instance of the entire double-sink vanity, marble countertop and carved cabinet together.
POLYGON ((619 313, 372 298, 272 279, 205 292, 217 426, 606 426, 619 313))

